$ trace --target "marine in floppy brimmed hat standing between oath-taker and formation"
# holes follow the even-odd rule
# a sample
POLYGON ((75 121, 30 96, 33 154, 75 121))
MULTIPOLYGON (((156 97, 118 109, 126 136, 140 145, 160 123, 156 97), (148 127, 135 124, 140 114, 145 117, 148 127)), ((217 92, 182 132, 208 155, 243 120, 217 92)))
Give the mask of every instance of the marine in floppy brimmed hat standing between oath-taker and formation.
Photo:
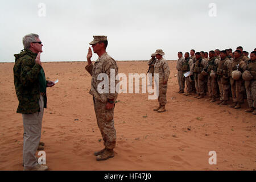
POLYGON ((164 52, 162 49, 157 49, 155 52, 156 62, 155 62, 155 79, 158 78, 158 88, 159 88, 159 96, 158 102, 159 106, 154 109, 154 111, 158 111, 162 113, 166 111, 166 93, 167 93, 167 82, 170 76, 170 68, 167 61, 163 58, 164 52), (158 77, 156 77, 156 73, 158 73, 158 77))

